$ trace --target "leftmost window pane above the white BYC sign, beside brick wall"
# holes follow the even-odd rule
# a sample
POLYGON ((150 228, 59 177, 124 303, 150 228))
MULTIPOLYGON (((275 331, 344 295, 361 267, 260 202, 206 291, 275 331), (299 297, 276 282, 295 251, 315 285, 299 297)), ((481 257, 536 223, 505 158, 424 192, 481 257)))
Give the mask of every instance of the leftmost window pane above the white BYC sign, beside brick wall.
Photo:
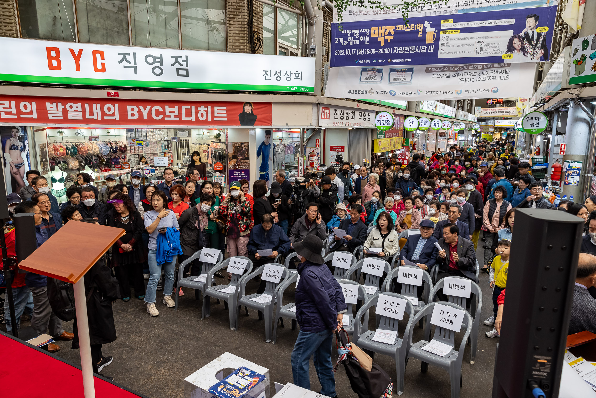
POLYGON ((18 0, 18 16, 24 38, 75 41, 72 1, 18 0))

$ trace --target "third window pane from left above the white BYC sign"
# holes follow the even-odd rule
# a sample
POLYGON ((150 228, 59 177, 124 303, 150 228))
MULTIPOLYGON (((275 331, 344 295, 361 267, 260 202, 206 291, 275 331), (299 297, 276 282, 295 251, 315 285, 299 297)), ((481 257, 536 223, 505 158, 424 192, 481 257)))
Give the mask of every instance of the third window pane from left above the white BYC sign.
POLYGON ((131 0, 132 45, 179 48, 178 4, 131 0))

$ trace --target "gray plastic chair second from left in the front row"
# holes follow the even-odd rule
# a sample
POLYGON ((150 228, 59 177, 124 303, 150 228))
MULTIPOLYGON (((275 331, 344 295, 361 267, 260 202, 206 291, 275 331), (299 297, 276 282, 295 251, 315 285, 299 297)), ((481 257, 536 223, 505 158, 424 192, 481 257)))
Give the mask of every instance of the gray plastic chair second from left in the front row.
POLYGON ((232 274, 232 279, 229 281, 228 285, 212 286, 205 290, 204 296, 203 296, 203 314, 201 315, 201 320, 205 319, 205 317, 210 315, 210 312, 211 312, 210 297, 215 297, 218 300, 223 300, 226 304, 228 304, 229 328, 231 330, 236 330, 236 313, 235 313, 235 311, 237 309, 236 303, 238 300, 238 288, 240 287, 240 283, 242 283, 242 281, 244 279, 246 279, 247 276, 249 276, 250 271, 253 270, 253 262, 250 261, 250 258, 243 257, 241 255, 238 255, 235 257, 229 257, 223 263, 218 264, 218 266, 213 267, 209 271, 209 273, 207 274, 207 280, 211 280, 211 278, 213 277, 213 274, 215 274, 217 271, 227 268, 228 263, 232 258, 242 258, 243 260, 249 260, 249 263, 246 265, 246 270, 244 271, 244 274, 242 274, 242 275, 232 274), (225 292, 219 291, 219 290, 226 288, 228 286, 234 286, 234 292, 225 293, 225 292))

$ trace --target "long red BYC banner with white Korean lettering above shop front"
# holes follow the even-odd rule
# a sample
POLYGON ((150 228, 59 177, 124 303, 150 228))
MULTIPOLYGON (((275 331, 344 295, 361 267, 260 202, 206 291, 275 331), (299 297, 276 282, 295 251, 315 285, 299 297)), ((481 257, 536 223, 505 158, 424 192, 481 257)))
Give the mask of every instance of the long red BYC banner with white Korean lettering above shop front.
POLYGON ((271 103, 0 95, 0 124, 122 127, 271 126, 271 103))

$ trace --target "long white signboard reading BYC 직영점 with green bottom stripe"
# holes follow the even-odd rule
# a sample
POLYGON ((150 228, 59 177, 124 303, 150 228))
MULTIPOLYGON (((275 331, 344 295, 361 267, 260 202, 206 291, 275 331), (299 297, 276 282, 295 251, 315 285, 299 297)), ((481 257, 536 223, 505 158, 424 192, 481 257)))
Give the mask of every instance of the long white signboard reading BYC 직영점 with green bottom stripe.
POLYGON ((0 37, 0 80, 191 90, 314 92, 315 59, 0 37), (242 67, 239 68, 238 65, 242 67))

